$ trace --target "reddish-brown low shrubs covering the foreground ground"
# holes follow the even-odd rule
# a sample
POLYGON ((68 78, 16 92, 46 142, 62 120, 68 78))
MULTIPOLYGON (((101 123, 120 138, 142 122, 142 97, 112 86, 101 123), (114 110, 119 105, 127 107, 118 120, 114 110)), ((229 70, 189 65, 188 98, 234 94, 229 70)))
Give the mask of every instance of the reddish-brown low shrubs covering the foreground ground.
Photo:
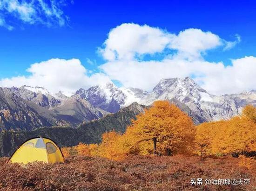
POLYGON ((256 189, 256 160, 250 168, 231 157, 131 156, 122 161, 71 156, 65 164, 26 168, 0 159, 0 190, 246 190, 256 189), (190 185, 190 178, 250 178, 250 185, 190 185))

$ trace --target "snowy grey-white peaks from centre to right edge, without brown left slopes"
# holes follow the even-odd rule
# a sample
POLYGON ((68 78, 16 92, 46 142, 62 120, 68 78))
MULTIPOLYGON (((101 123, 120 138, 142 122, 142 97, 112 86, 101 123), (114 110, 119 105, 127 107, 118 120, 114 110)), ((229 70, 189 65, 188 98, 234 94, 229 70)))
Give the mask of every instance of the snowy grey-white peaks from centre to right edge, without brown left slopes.
POLYGON ((92 105, 112 113, 132 102, 151 105, 155 100, 175 99, 206 121, 229 119, 240 114, 245 105, 256 104, 255 90, 215 96, 202 89, 190 77, 162 79, 150 93, 136 88, 118 88, 113 83, 108 83, 88 90, 80 89, 76 94, 92 105))

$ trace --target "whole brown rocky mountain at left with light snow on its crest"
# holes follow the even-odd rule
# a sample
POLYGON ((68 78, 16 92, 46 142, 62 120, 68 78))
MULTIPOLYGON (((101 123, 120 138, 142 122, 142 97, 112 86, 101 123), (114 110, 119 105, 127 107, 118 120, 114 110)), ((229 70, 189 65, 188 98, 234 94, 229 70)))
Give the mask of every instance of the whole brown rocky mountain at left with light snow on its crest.
POLYGON ((108 112, 80 96, 53 96, 46 89, 0 88, 0 129, 33 130, 45 126, 76 127, 108 112))

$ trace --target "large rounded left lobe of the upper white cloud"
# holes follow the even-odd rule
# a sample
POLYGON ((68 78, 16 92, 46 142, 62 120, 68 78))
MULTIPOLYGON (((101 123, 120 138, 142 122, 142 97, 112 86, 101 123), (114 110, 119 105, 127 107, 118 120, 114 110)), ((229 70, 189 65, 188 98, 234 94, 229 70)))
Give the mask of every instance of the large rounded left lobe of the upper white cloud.
POLYGON ((109 32, 100 51, 107 60, 130 60, 136 55, 163 51, 170 41, 169 36, 167 32, 148 25, 124 23, 109 32))

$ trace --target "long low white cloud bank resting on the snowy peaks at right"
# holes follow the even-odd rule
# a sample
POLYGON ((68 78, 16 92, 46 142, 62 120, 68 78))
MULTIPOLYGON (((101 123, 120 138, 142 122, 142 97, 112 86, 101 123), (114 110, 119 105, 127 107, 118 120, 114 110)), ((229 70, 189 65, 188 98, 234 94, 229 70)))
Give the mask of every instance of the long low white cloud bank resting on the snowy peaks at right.
POLYGON ((256 89, 256 57, 232 60, 225 67, 222 62, 188 61, 178 58, 162 61, 115 61, 100 66, 111 79, 125 87, 151 91, 162 78, 195 76, 194 80, 209 93, 222 95, 256 89))

